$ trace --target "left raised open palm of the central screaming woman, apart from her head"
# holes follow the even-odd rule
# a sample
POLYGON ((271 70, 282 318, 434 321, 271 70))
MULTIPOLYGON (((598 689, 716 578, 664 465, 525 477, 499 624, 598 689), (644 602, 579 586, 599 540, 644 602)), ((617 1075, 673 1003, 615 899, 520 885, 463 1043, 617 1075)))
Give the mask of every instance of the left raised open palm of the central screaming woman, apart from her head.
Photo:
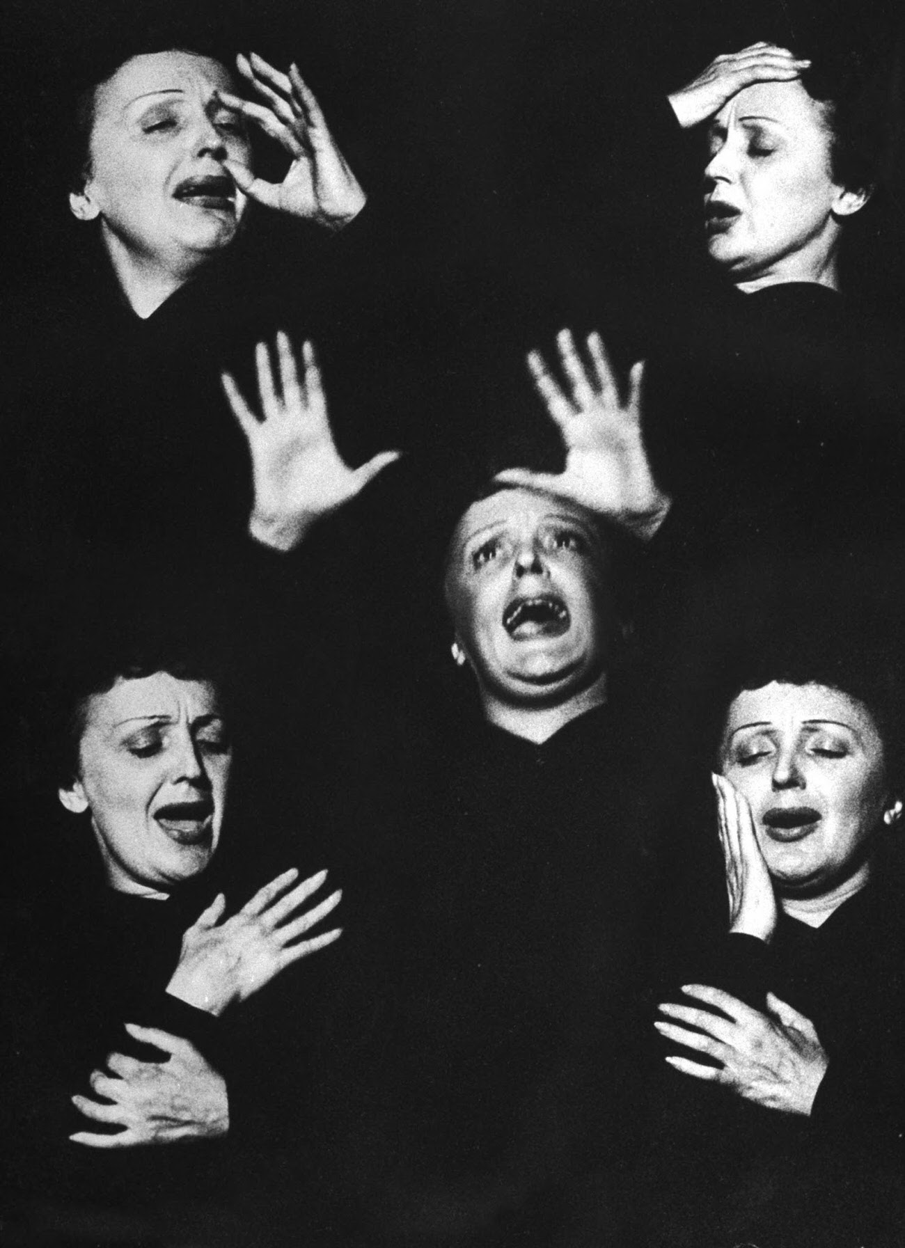
POLYGON ((263 419, 246 403, 235 379, 222 373, 226 398, 248 439, 255 504, 248 524, 253 538, 277 550, 291 550, 318 519, 355 498, 398 451, 384 451, 361 468, 340 458, 330 432, 321 371, 310 342, 302 344, 302 377, 285 333, 278 333, 277 392, 266 343, 255 349, 263 419))

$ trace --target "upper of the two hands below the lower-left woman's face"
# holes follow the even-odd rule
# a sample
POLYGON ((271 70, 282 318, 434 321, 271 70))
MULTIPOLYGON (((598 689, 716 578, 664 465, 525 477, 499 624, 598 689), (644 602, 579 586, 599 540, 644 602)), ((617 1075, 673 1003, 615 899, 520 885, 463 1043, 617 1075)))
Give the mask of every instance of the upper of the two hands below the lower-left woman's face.
POLYGON ((300 941, 298 937, 340 905, 337 889, 328 897, 292 917, 303 901, 321 887, 326 871, 296 880, 292 867, 258 889, 251 901, 221 922, 226 899, 220 894, 182 937, 179 966, 166 991, 198 1010, 221 1015, 227 1006, 245 1001, 300 957, 332 945, 341 927, 300 941))

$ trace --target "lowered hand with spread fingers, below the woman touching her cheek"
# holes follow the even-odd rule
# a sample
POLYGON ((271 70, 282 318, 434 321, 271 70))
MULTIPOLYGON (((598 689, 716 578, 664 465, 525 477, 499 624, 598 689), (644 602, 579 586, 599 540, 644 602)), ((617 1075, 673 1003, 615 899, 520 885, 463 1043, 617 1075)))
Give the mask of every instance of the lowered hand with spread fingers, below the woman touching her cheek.
POLYGON ((682 991, 722 1013, 689 1005, 662 1005, 660 1012, 677 1021, 658 1021, 654 1026, 660 1035, 720 1065, 667 1057, 670 1066, 694 1078, 722 1083, 765 1109, 810 1114, 829 1058, 809 1018, 771 992, 766 996, 769 1015, 764 1015, 719 988, 692 983, 682 991))

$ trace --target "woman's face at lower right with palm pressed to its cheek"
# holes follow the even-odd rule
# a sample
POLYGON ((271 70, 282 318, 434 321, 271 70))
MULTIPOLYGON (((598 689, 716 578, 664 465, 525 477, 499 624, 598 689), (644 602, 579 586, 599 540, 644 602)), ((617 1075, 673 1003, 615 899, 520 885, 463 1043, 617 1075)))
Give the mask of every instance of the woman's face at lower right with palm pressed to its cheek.
POLYGON ((883 741, 861 703, 825 685, 743 690, 720 753, 781 891, 820 896, 864 865, 889 789, 883 741))

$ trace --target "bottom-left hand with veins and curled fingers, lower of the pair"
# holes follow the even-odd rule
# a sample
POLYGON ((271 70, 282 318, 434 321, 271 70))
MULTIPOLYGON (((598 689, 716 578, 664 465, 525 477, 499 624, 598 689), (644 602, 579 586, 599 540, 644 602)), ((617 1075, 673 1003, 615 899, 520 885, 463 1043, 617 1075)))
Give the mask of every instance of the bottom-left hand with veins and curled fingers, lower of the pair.
POLYGON ((169 1058, 140 1062, 111 1053, 105 1071, 92 1071, 94 1091, 112 1104, 74 1096, 72 1104, 95 1122, 125 1127, 116 1134, 79 1131, 69 1138, 90 1148, 134 1148, 136 1144, 171 1144, 183 1139, 216 1139, 230 1128, 226 1083, 187 1040, 156 1027, 127 1022, 126 1031, 154 1045, 169 1058))

